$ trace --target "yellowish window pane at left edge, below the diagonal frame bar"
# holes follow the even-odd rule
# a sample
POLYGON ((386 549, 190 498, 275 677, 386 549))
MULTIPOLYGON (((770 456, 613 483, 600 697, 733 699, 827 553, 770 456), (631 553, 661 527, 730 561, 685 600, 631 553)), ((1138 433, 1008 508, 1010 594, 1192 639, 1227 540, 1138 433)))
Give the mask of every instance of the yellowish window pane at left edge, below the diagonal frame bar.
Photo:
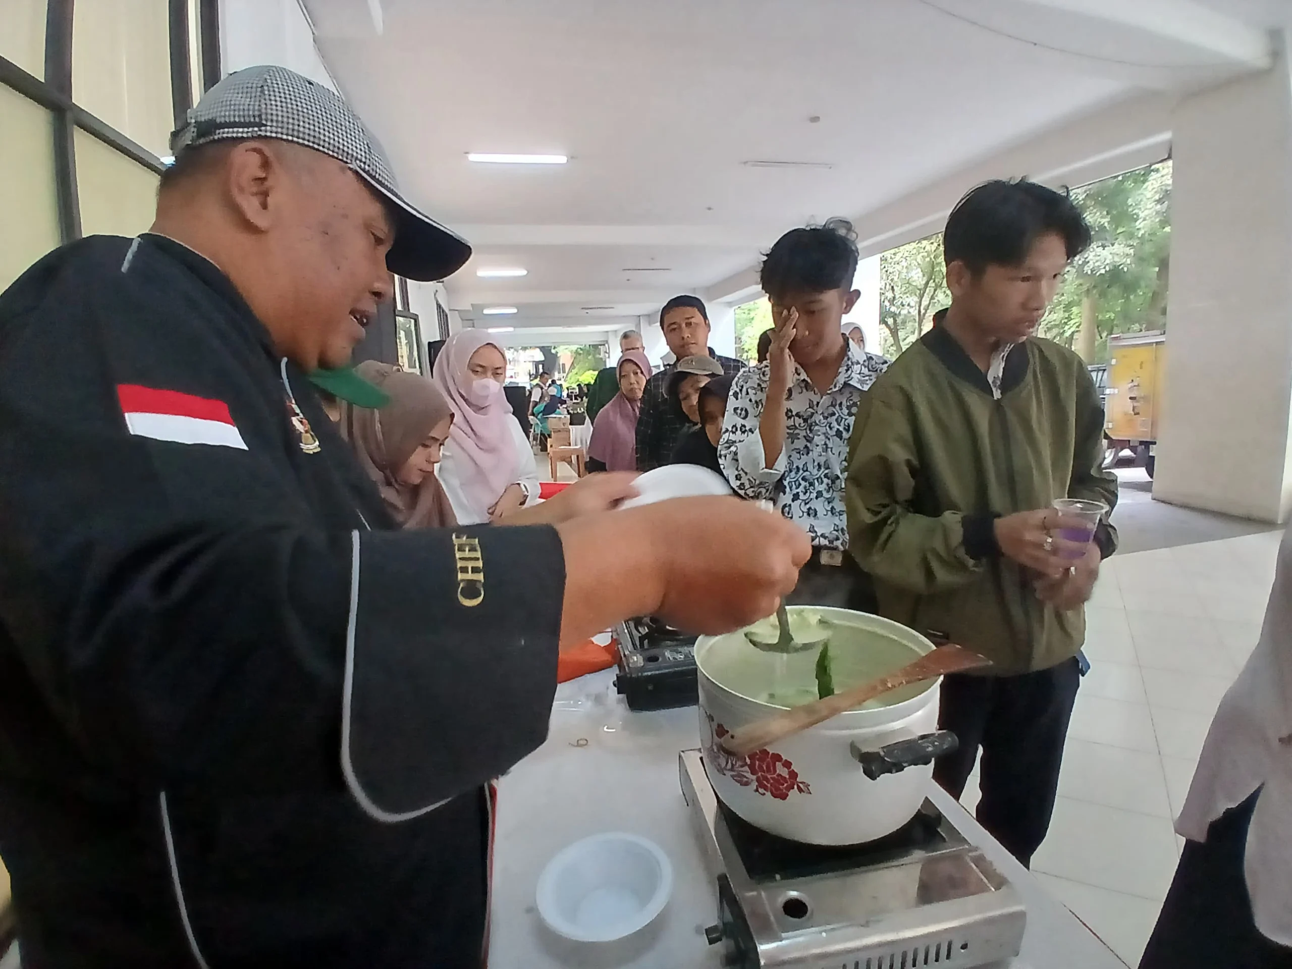
POLYGON ((0 84, 0 289, 58 245, 53 118, 0 84))

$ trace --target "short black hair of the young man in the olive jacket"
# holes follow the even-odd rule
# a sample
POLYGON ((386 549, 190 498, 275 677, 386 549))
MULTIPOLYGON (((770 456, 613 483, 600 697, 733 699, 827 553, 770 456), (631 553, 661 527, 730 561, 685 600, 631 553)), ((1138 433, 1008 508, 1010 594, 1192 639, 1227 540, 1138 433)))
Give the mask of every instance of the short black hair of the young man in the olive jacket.
POLYGON ((1026 178, 996 180, 972 189, 947 218, 942 252, 950 266, 964 262, 975 276, 987 266, 1019 266, 1043 235, 1063 239, 1070 260, 1090 247, 1090 226, 1071 194, 1026 178))

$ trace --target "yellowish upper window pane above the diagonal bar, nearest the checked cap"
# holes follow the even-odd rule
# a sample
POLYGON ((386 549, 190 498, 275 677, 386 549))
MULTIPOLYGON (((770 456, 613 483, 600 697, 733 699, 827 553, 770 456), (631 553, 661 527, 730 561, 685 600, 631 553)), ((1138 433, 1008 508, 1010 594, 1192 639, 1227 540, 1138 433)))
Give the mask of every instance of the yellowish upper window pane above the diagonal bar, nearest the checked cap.
POLYGON ((174 128, 167 8, 167 0, 72 6, 72 99, 158 158, 171 154, 174 128))

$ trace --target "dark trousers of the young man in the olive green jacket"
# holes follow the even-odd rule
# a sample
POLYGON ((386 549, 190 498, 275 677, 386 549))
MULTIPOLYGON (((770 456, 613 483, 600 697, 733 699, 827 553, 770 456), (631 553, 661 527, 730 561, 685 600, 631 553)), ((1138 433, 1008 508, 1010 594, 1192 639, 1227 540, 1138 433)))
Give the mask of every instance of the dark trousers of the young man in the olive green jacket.
POLYGON ((1063 742, 1081 674, 1076 659, 1021 676, 948 676, 938 726, 960 738, 933 779, 960 797, 982 748, 978 823, 1025 866, 1049 831, 1063 742))

